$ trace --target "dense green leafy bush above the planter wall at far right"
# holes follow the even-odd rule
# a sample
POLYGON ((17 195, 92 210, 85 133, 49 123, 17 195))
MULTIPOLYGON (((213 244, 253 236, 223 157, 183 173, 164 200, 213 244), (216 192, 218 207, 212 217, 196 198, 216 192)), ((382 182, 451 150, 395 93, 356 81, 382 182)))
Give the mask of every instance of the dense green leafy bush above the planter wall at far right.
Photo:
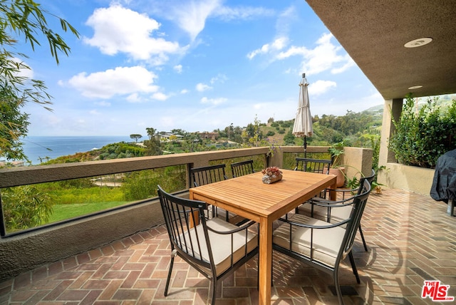
POLYGON ((446 110, 437 101, 427 100, 417 112, 415 100, 407 96, 389 142, 398 162, 433 168, 440 155, 456 148, 456 100, 446 110))

